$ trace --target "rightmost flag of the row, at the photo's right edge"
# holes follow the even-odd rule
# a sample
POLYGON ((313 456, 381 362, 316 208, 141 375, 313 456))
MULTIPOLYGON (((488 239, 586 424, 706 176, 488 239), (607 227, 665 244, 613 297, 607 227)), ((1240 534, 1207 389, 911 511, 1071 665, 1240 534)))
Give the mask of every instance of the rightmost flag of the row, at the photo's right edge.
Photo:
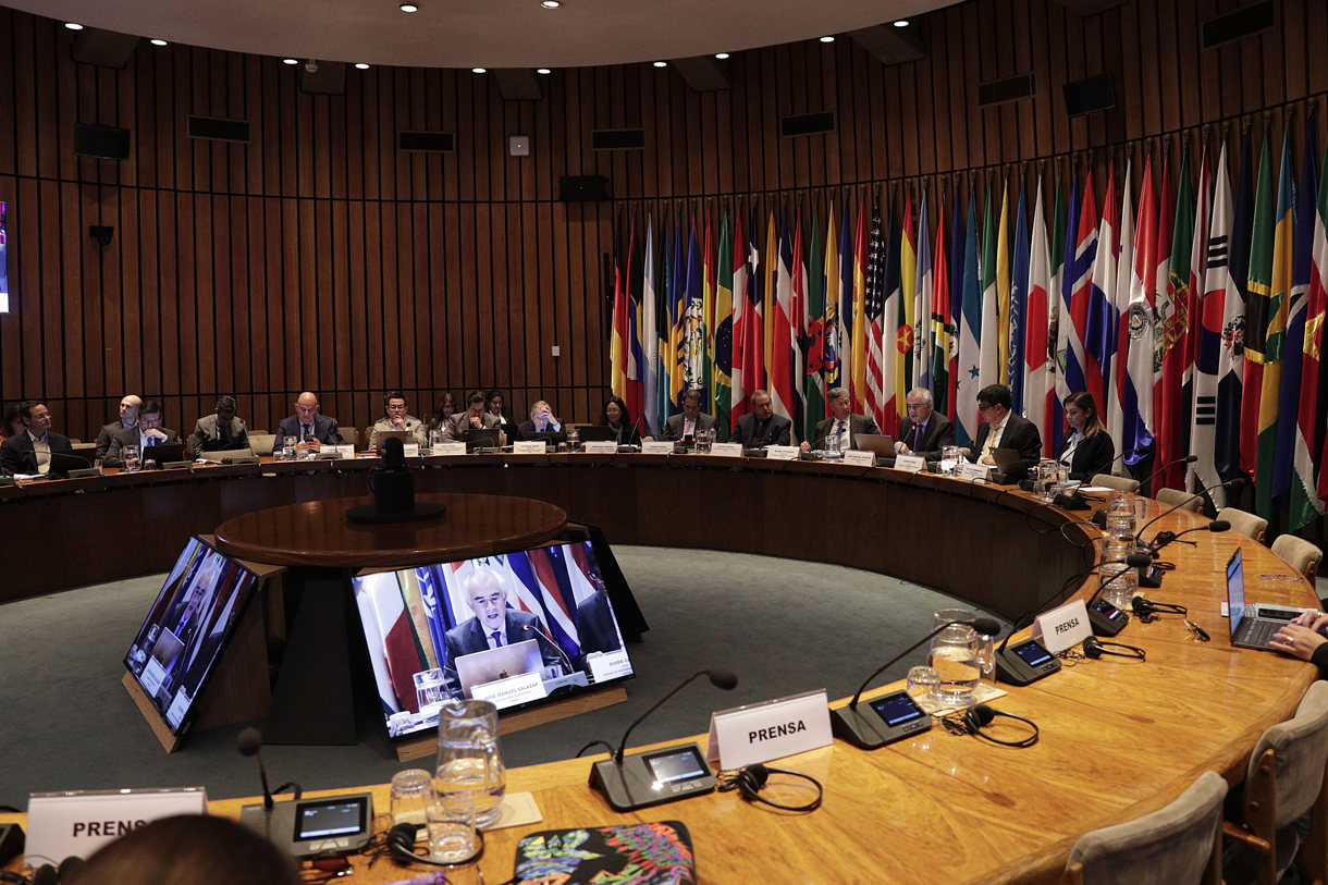
MULTIPOLYGON (((1324 502, 1315 482, 1315 409, 1319 395, 1319 348, 1323 344, 1324 280, 1316 258, 1328 258, 1324 210, 1328 203, 1315 181, 1315 128, 1305 126, 1305 154, 1296 206, 1296 255, 1292 303, 1287 323, 1287 355, 1282 365, 1282 401, 1278 416, 1278 485, 1286 473, 1288 528, 1295 532, 1323 516, 1324 502), (1317 264, 1317 267, 1316 267, 1317 264), (1295 413, 1291 404, 1299 403, 1295 413)), ((1276 494, 1276 492, 1275 492, 1276 494)))

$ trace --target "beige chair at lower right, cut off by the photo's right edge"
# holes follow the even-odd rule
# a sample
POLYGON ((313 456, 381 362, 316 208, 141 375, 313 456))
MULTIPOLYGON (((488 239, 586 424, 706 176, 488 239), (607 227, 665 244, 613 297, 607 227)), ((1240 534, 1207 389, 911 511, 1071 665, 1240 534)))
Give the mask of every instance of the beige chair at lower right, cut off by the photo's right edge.
MULTIPOLYGON (((1223 833, 1258 861, 1259 885, 1276 885, 1296 852, 1312 881, 1328 881, 1328 682, 1309 686, 1296 715, 1263 732, 1250 756, 1244 823, 1224 821, 1223 833), (1311 816, 1301 844, 1297 820, 1311 816)), ((1234 870, 1231 870, 1234 872, 1234 870)))

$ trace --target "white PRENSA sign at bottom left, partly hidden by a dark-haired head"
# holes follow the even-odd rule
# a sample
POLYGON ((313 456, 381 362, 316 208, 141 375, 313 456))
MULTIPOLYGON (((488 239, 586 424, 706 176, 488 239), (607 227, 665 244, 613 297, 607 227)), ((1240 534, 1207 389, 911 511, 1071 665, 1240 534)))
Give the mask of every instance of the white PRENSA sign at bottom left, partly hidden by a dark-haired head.
POLYGON ((33 866, 66 857, 89 857, 118 836, 158 817, 206 815, 207 789, 104 789, 32 793, 28 797, 28 844, 33 866))

